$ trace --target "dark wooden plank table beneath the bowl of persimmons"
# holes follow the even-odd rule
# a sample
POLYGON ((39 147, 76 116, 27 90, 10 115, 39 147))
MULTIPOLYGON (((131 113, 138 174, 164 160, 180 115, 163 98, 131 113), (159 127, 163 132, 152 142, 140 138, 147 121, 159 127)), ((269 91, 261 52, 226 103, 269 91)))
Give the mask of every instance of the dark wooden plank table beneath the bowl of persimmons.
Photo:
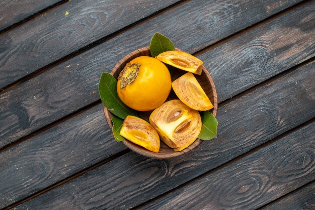
POLYGON ((315 1, 0 3, 0 208, 315 209, 315 1), (160 32, 204 61, 218 138, 140 156, 101 72, 160 32))

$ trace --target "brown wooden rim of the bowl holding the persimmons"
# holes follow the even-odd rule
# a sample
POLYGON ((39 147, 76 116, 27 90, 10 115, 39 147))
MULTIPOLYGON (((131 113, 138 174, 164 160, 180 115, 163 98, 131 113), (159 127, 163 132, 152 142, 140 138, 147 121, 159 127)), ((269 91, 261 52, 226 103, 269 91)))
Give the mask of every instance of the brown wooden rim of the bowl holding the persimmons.
MULTIPOLYGON (((183 51, 179 48, 175 48, 177 51, 183 51)), ((114 73, 117 71, 117 69, 124 63, 126 62, 128 59, 130 59, 132 56, 136 55, 136 54, 139 54, 139 53, 142 53, 144 51, 147 51, 147 50, 150 50, 150 48, 148 46, 146 47, 142 47, 142 48, 139 48, 137 50, 134 50, 132 51, 131 53, 127 54, 126 56, 124 56, 114 67, 113 69, 111 70, 110 74, 111 75, 114 75, 114 73)), ((185 52, 185 51, 183 51, 185 52)), ((139 55, 141 56, 141 55, 139 55)), ((212 94, 213 94, 213 109, 211 109, 211 113, 212 115, 214 115, 214 117, 216 117, 216 114, 217 114, 217 108, 218 108, 218 102, 217 102, 217 92, 216 92, 216 88, 215 88, 215 84, 214 84, 214 81, 211 77, 211 75, 209 74, 208 70, 206 69, 206 67, 204 65, 202 65, 202 71, 205 73, 205 75, 207 76, 209 82, 210 82, 210 86, 211 86, 211 89, 212 89, 212 94)), ((211 101, 212 102, 212 101, 211 101)), ((104 111, 104 115, 105 115, 105 119, 106 119, 106 122, 109 126, 109 128, 112 130, 113 128, 113 123, 111 121, 112 119, 112 116, 113 114, 111 112, 109 112, 109 110, 104 106, 103 104, 103 111, 104 111)), ((112 134, 113 135, 113 134, 112 134)), ((173 157, 178 157, 178 156, 181 156, 183 154, 186 154, 187 152, 191 151, 192 149, 196 148, 203 140, 197 138, 191 145, 189 145, 187 148, 185 148, 184 150, 182 151, 179 151, 179 152, 172 152, 170 154, 162 154, 162 153, 156 153, 156 152, 152 152, 152 151, 149 151, 145 148, 142 148, 141 146, 139 145, 136 145, 132 142, 130 142, 129 140, 125 139, 124 141, 122 141, 122 143, 127 147, 129 148, 130 150, 140 154, 140 155, 143 155, 143 156, 146 156, 146 157, 149 157, 149 158, 155 158, 155 159, 168 159, 168 158, 173 158, 173 157)))

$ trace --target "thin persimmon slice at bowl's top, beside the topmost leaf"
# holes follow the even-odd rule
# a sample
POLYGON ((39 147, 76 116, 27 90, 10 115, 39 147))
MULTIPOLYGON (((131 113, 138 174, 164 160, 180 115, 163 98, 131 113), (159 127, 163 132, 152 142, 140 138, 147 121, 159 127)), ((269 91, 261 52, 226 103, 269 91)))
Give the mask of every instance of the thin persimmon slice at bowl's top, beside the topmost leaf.
POLYGON ((198 75, 202 73, 203 62, 195 56, 181 51, 166 51, 155 57, 176 68, 189 71, 198 75))

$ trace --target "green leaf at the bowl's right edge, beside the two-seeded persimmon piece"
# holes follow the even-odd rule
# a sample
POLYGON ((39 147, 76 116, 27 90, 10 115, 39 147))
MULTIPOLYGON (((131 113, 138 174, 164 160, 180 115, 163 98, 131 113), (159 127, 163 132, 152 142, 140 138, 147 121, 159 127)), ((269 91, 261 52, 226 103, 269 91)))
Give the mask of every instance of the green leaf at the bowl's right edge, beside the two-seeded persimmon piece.
POLYGON ((216 138, 218 121, 215 119, 212 113, 208 111, 201 112, 200 115, 202 127, 198 138, 202 140, 210 140, 216 138))

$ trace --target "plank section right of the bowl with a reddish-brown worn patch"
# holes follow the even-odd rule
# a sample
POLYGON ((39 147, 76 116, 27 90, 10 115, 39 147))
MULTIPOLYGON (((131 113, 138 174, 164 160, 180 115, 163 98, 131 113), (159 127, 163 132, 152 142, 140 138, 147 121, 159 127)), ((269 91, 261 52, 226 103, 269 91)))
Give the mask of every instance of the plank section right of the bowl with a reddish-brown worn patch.
POLYGON ((199 56, 219 101, 315 56, 315 3, 305 7, 199 56))

